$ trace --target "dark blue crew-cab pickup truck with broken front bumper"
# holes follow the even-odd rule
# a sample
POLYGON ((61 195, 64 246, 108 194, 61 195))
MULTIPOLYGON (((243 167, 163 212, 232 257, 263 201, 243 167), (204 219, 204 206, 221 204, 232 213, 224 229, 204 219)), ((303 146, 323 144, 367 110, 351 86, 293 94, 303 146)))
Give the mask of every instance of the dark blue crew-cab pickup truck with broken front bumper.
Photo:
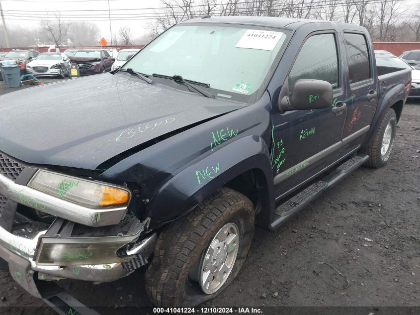
POLYGON ((153 304, 210 300, 255 224, 387 162, 411 71, 377 73, 354 24, 204 16, 113 73, 1 96, 0 256, 40 298, 149 264, 153 304))

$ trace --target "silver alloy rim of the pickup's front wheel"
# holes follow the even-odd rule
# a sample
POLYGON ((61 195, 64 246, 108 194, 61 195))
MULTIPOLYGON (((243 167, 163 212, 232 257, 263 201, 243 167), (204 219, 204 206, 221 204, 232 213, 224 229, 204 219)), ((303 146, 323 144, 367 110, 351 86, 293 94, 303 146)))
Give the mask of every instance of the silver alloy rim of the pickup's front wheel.
POLYGON ((201 258, 199 278, 204 293, 213 294, 223 286, 233 269, 238 249, 238 226, 223 225, 201 258))

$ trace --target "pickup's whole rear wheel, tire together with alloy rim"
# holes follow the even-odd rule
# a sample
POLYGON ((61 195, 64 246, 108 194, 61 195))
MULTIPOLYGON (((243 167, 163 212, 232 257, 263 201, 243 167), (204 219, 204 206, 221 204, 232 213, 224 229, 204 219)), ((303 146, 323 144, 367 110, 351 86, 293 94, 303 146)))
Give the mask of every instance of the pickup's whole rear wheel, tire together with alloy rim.
POLYGON ((372 141, 361 149, 362 153, 369 155, 366 166, 379 168, 386 164, 391 155, 396 131, 397 116, 394 109, 389 108, 375 130, 372 141))

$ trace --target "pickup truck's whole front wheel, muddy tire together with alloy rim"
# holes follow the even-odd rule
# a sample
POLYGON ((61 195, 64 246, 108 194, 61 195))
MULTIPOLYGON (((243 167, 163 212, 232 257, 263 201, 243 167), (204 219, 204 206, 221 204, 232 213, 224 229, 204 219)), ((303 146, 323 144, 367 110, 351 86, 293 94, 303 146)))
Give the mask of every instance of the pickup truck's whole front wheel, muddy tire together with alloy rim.
POLYGON ((159 236, 146 272, 156 306, 196 306, 215 298, 245 262, 254 209, 244 195, 222 188, 159 236))

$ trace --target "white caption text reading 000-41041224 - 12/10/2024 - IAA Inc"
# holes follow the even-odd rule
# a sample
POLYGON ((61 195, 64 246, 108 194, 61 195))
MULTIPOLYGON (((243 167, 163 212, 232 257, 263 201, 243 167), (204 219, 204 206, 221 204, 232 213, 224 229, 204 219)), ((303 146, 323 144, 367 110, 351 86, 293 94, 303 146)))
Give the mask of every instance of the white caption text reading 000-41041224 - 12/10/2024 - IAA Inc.
POLYGON ((155 314, 262 314, 260 308, 153 308, 155 314))

